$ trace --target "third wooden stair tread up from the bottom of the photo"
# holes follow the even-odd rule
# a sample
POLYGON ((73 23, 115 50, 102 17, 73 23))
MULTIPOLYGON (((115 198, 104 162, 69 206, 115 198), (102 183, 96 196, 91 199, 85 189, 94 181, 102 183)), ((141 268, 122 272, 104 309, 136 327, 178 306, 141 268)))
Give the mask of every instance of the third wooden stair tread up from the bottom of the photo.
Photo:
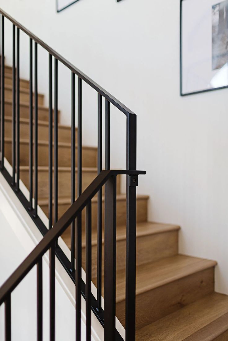
MULTIPOLYGON (((176 231, 180 227, 176 225, 168 225, 168 224, 160 224, 160 223, 151 223, 151 222, 143 222, 136 224, 136 238, 142 236, 148 236, 152 234, 164 233, 167 231, 176 231)), ((104 226, 102 231, 102 243, 104 244, 104 226)), ((70 246, 70 230, 67 229, 62 238, 66 242, 67 245, 70 246)), ((121 241, 126 239, 126 225, 118 226, 116 231, 116 241, 121 241)), ((97 245, 97 231, 92 229, 92 246, 97 245)), ((85 247, 85 231, 82 230, 82 247, 85 247)))

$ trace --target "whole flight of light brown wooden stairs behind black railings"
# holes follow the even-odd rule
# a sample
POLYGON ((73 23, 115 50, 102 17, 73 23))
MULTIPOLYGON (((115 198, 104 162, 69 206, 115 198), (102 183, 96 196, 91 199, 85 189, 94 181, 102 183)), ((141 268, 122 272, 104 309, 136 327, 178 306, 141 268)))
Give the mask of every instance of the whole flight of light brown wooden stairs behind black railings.
MULTIPOLYGON (((12 164, 12 67, 5 66, 5 158, 12 164)), ((38 95, 38 205, 49 216, 49 109, 38 95)), ((61 115, 58 112, 58 119, 61 115)), ((20 176, 29 189, 29 81, 20 81, 20 176)), ((76 128, 77 136, 77 128, 76 128)), ((76 147, 77 158, 77 147, 76 147)), ((54 172, 54 168, 53 168, 54 172)), ((77 176, 77 168, 75 169, 77 176)), ((97 176, 97 148, 82 146, 82 191, 97 176)), ((71 127, 58 124, 58 217, 71 206, 71 127)), ((126 195, 117 176, 116 316, 125 327, 126 195)), ((77 182, 76 182, 77 192, 77 182)), ((228 297, 214 291, 215 261, 178 254, 179 226, 147 221, 147 195, 136 208, 136 340, 228 340, 228 297)), ((91 278, 97 285, 97 204, 91 201, 91 278)), ((102 197, 104 296, 104 191, 102 197)), ((53 207, 54 209, 54 207, 53 207)), ((82 267, 86 271, 86 213, 82 211, 82 267)), ((62 234, 71 248, 70 227, 62 234)), ((130 340, 129 340, 130 341, 130 340)), ((131 340, 133 341, 133 340, 131 340)))

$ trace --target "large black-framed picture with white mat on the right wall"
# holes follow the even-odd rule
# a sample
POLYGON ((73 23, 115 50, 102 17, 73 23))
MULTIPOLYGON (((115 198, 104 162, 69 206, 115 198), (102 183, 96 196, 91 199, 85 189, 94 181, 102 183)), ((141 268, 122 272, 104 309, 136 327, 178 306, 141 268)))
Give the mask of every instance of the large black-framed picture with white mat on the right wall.
POLYGON ((228 87, 228 0, 180 1, 180 94, 228 87))

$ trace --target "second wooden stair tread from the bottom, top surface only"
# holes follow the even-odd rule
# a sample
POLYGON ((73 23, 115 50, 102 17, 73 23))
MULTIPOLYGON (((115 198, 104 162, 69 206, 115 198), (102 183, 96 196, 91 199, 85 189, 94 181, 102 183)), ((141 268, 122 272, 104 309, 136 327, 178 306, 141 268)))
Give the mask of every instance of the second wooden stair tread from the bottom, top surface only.
MULTIPOLYGON (((139 265, 136 267, 136 295, 214 267, 216 264, 215 261, 178 254, 157 262, 139 265)), ((125 300, 124 279, 125 269, 117 271, 117 302, 125 300)))

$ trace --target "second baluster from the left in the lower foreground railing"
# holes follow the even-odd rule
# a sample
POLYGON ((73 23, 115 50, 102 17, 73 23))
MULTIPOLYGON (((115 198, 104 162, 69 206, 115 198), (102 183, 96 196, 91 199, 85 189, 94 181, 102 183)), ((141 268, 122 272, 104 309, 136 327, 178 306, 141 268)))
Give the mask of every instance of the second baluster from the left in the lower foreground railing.
POLYGON ((43 264, 37 263, 37 341, 43 339, 43 264))

